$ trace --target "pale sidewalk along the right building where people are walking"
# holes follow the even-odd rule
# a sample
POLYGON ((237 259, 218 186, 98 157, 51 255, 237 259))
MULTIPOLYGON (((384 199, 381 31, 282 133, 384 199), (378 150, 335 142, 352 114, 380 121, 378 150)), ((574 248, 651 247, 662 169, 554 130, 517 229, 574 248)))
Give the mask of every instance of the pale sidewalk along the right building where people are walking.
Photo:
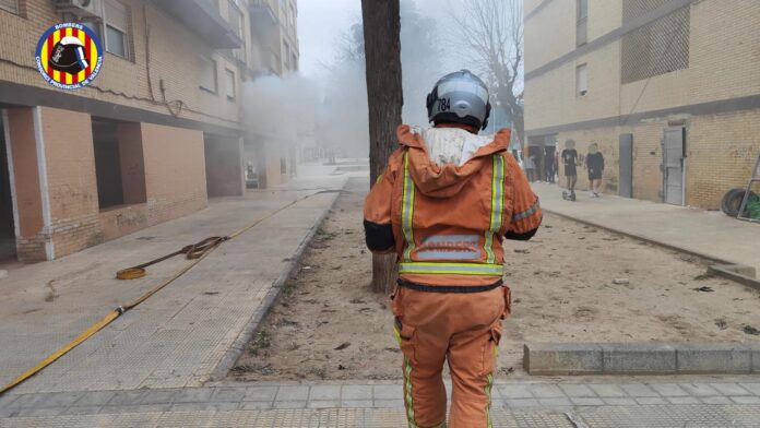
POLYGON ((716 261, 753 266, 760 274, 760 225, 729 218, 721 212, 668 205, 603 194, 592 199, 578 191, 578 201, 562 200, 562 189, 532 185, 542 207, 594 226, 694 253, 716 261))

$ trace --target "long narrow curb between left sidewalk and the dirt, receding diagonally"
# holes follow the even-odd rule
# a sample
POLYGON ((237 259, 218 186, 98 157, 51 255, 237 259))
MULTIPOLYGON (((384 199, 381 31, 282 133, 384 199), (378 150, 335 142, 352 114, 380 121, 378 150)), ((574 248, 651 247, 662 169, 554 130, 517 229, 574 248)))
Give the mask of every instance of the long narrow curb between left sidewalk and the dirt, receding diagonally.
POLYGON ((330 212, 335 206, 335 202, 337 202, 337 198, 341 195, 341 192, 345 189, 348 180, 345 180, 343 181, 343 185, 340 186, 340 188, 335 189, 336 192, 334 193, 333 200, 330 203, 330 205, 324 210, 324 212, 319 216, 319 218, 317 218, 317 222, 314 222, 314 224, 311 226, 311 229, 309 229, 309 233, 304 237, 304 240, 298 246, 294 254, 290 257, 290 260, 285 266, 285 270, 280 274, 277 280, 274 281, 272 287, 270 287, 270 290, 266 292, 266 296, 264 296, 264 299, 261 301, 262 309, 253 312, 251 318, 246 323, 246 326, 242 329, 240 334, 238 334, 235 342, 233 342, 229 348, 225 352, 224 356, 222 357, 219 362, 216 364, 216 367, 214 367, 214 370, 211 371, 209 379, 206 379, 203 382, 203 384, 205 384, 206 382, 219 381, 227 377, 229 370, 235 366, 235 361, 237 361, 242 352, 246 350, 246 345, 248 345, 248 343, 253 337, 253 333, 256 333, 256 331, 259 329, 259 324, 261 324, 261 321, 269 314, 270 310, 272 310, 274 302, 280 297, 280 293, 283 289, 283 285, 290 277, 290 275, 293 275, 296 269, 298 269, 298 265, 300 264, 304 258, 306 249, 309 247, 309 243, 311 243, 311 240, 313 239, 314 235, 317 235, 317 230, 324 223, 324 219, 328 217, 328 215, 330 215, 330 212))

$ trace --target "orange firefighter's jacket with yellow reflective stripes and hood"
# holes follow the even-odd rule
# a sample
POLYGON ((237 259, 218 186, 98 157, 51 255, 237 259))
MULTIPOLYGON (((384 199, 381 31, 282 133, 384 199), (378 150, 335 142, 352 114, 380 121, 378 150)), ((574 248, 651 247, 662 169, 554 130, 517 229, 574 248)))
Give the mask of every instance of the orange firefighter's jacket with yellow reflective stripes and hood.
POLYGON ((399 127, 401 146, 365 201, 367 246, 395 251, 403 283, 431 292, 489 289, 501 284, 502 239, 527 240, 541 225, 538 198, 507 152, 510 130, 486 140, 440 130, 472 135, 459 142, 464 158, 446 163, 431 159, 423 136, 437 131, 399 127))

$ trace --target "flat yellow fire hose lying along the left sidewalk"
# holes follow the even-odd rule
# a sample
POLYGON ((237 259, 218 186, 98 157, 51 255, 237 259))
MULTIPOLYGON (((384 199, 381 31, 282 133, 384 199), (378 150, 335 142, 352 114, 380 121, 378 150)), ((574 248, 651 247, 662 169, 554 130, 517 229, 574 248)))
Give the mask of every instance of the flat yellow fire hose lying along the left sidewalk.
POLYGON ((256 222, 251 223, 250 225, 248 225, 248 226, 246 226, 246 227, 244 227, 244 228, 241 228, 241 229, 236 230, 235 233, 233 233, 233 234, 230 234, 230 235, 227 235, 227 236, 224 236, 224 237, 211 237, 211 238, 206 238, 206 239, 204 239, 204 240, 202 240, 202 241, 200 241, 200 242, 198 242, 198 243, 183 247, 181 250, 179 250, 179 251, 177 251, 177 252, 173 252, 171 254, 167 254, 167 255, 164 255, 164 257, 162 257, 162 258, 152 260, 152 261, 150 261, 150 262, 147 262, 147 263, 143 263, 143 264, 140 264, 140 265, 136 265, 136 266, 133 266, 133 268, 128 268, 128 269, 124 269, 124 270, 119 271, 119 272, 117 273, 117 277, 119 276, 119 273, 121 273, 122 276, 124 276, 124 277, 123 277, 123 278, 120 278, 120 280, 131 280, 131 278, 138 278, 138 277, 145 276, 145 268, 146 268, 146 266, 152 265, 152 264, 155 264, 155 263, 158 263, 158 262, 162 262, 162 261, 164 261, 164 260, 167 260, 167 259, 173 258, 173 257, 178 255, 178 254, 182 254, 182 253, 183 253, 183 254, 187 255, 188 259, 192 260, 192 262, 190 262, 190 263, 189 263, 188 265, 186 265, 185 268, 180 269, 180 270, 179 270, 176 274, 174 274, 170 278, 164 281, 163 283, 161 283, 159 285, 157 285, 156 287, 154 287, 154 288, 151 289, 150 292, 147 292, 147 293, 145 293, 144 295, 140 296, 140 298, 138 298, 136 300, 134 300, 134 301, 132 301, 132 302, 130 302, 130 304, 128 304, 128 305, 119 306, 119 307, 117 307, 116 309, 112 309, 112 310, 111 310, 110 312, 108 312, 105 317, 103 317, 99 321, 97 321, 96 323, 92 324, 87 330, 85 330, 85 331, 82 332, 79 336, 76 336, 76 338, 74 338, 73 341, 69 342, 68 344, 66 344, 64 346, 62 346, 61 348, 59 348, 59 349, 56 350, 55 353, 50 354, 47 358, 45 358, 45 359, 43 359, 41 361, 39 361, 36 366, 34 366, 34 367, 32 367, 31 369, 26 370, 23 374, 21 374, 21 376, 19 376, 17 378, 13 379, 10 383, 8 383, 8 384, 4 385, 2 389, 0 389, 0 396, 1 396, 2 394, 4 394, 5 392, 10 391, 11 389, 15 388, 16 385, 19 385, 20 383, 24 382, 24 381, 27 380, 28 378, 31 378, 31 377, 37 374, 37 373, 38 373, 39 371, 41 371, 44 368, 46 368, 47 366, 49 366, 49 365, 51 365, 54 361, 56 361, 58 358, 60 358, 60 357, 62 357, 63 355, 66 355, 69 350, 73 349, 73 348, 76 347, 79 344, 81 344, 82 342, 84 342, 84 341, 86 341, 87 338, 92 337, 95 333, 97 333, 98 331, 100 331, 102 329, 104 329, 105 326, 107 326, 108 324, 110 324, 111 322, 114 322, 114 320, 116 320, 117 318, 121 317, 123 313, 126 313, 126 312, 129 311, 130 309, 132 309, 132 308, 134 308, 135 306, 142 304, 143 301, 147 300, 151 296, 153 296, 154 294, 158 293, 159 290, 162 290, 164 287, 166 287, 167 285, 171 284, 173 282, 175 282, 177 278, 179 278, 180 276, 182 276, 186 272, 188 272, 189 270, 191 270, 194 265, 197 265, 198 263, 200 263, 201 260, 205 259, 209 254, 211 254, 216 248, 218 248, 219 245, 222 245, 222 242, 225 242, 225 241, 227 241, 227 240, 231 240, 231 239, 237 238, 238 236, 245 234, 246 231, 248 231, 248 230, 252 229, 253 227, 256 227, 257 225, 259 225, 261 222, 263 222, 263 221, 265 221, 265 219, 268 219, 268 218, 273 217, 274 215, 281 213, 282 211, 284 211, 284 210, 286 210, 286 209, 288 209, 288 207, 295 205, 296 203, 301 202, 301 201, 304 201, 304 200, 306 200, 306 199, 308 199, 308 198, 311 198, 311 197, 317 195, 317 194, 322 194, 322 193, 337 193, 337 192, 342 192, 342 191, 341 191, 341 190, 323 190, 323 191, 320 191, 320 192, 316 192, 316 193, 308 194, 308 195, 306 195, 306 197, 304 197, 304 198, 297 199, 297 200, 295 200, 295 201, 293 201, 293 202, 290 202, 290 203, 288 203, 288 204, 286 204, 286 205, 284 205, 284 206, 282 206, 282 207, 280 207, 280 209, 273 211, 273 212, 270 213, 270 214, 266 214, 265 216, 263 216, 263 217, 257 219, 256 222), (138 276, 134 276, 134 275, 138 275, 138 276), (133 277, 132 277, 132 276, 133 276, 133 277))

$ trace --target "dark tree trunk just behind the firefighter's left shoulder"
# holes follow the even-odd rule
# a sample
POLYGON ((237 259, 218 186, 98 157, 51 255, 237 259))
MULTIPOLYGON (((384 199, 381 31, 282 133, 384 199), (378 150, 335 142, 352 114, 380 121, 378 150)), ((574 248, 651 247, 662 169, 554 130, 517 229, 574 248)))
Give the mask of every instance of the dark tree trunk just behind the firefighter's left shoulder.
MULTIPOLYGON (((388 158, 396 147, 395 129, 401 124, 404 105, 399 0, 361 0, 361 21, 367 61, 371 186, 385 169, 388 158)), ((372 257, 373 290, 390 293, 395 277, 395 255, 372 257)))

